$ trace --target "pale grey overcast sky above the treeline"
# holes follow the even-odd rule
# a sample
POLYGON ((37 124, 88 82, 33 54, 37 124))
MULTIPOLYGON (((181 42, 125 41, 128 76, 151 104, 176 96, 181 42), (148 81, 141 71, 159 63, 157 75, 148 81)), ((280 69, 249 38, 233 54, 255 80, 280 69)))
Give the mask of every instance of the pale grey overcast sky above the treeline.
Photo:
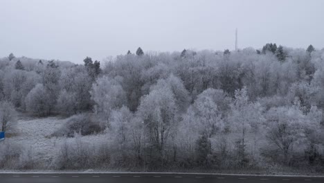
POLYGON ((324 47, 323 0, 0 0, 0 57, 70 60, 186 49, 324 47))

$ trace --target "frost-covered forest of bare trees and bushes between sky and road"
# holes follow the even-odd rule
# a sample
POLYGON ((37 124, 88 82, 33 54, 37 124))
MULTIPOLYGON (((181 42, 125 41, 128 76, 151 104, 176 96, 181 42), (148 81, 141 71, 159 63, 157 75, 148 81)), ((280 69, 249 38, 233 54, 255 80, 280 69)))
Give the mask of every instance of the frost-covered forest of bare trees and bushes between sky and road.
POLYGON ((83 63, 0 58, 0 169, 324 173, 324 49, 138 48, 83 63), (53 158, 10 141, 21 116, 66 119, 46 137, 64 139, 53 158))

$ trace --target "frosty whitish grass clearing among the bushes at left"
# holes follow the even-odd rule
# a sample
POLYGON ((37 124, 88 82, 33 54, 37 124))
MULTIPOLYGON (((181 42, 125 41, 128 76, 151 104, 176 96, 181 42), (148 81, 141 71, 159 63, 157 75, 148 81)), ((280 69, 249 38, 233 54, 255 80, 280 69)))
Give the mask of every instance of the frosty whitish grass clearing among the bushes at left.
MULTIPOLYGON (((51 162, 55 155, 60 150, 60 146, 64 137, 51 137, 55 130, 66 123, 67 119, 60 119, 57 117, 47 117, 42 119, 19 119, 12 130, 12 137, 8 137, 8 141, 15 141, 15 143, 24 146, 24 148, 31 150, 35 160, 43 162, 46 167, 51 166, 51 162)), ((87 143, 102 142, 105 140, 104 134, 91 135, 81 137, 82 141, 87 143)), ((72 140, 72 139, 69 139, 72 140)))

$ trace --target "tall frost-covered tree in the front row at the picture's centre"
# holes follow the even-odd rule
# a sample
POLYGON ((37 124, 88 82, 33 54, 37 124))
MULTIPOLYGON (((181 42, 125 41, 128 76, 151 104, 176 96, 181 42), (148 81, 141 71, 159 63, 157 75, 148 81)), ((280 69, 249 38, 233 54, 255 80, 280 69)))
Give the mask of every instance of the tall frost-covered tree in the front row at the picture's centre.
POLYGON ((156 161, 163 157, 168 139, 177 125, 178 109, 174 101, 172 90, 164 86, 143 96, 138 107, 138 116, 145 125, 148 143, 156 150, 156 161))

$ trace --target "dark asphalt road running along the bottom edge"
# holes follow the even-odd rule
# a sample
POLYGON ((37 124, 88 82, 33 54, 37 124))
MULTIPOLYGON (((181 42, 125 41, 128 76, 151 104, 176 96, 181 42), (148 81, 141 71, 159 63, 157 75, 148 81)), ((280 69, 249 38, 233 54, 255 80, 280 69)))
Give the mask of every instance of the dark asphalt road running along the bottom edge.
POLYGON ((206 174, 152 174, 152 173, 0 173, 1 183, 324 183, 324 177, 292 177, 265 175, 206 175, 206 174))

